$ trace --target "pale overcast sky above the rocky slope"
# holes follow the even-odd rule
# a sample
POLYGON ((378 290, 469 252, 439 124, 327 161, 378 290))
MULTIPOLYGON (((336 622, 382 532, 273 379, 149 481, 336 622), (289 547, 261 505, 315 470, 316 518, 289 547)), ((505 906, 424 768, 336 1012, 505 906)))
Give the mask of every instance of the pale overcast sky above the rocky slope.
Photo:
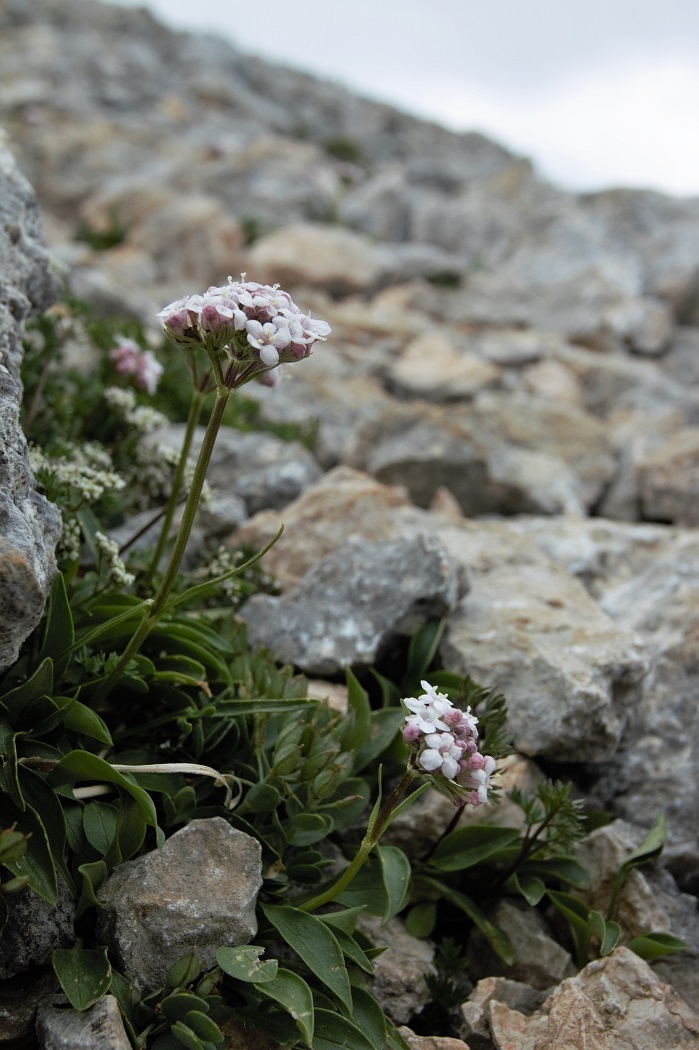
POLYGON ((699 195, 699 0, 120 0, 525 153, 699 195))

